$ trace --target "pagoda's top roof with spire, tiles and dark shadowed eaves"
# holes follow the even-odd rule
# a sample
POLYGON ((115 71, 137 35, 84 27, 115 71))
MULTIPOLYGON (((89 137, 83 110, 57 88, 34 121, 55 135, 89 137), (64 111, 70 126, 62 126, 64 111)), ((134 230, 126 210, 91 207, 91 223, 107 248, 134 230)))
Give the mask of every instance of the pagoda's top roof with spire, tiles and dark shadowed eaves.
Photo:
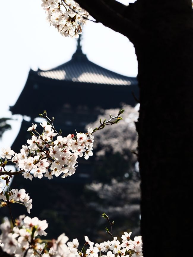
MULTIPOLYGON (((80 95, 83 91, 89 92, 86 99, 89 108, 100 106, 109 109, 120 106, 120 103, 134 106, 136 101, 132 93, 138 97, 139 90, 136 77, 112 72, 89 61, 78 40, 77 50, 70 61, 47 71, 30 69, 26 84, 15 105, 10 106, 10 111, 12 114, 35 118, 48 106, 48 99, 51 99, 53 92, 59 92, 64 97, 74 95, 75 92, 80 95), (29 101, 32 96, 38 101, 33 107, 29 101)), ((82 105, 83 101, 81 97, 64 97, 61 101, 55 101, 54 109, 60 110, 64 104, 70 104, 73 108, 82 105)), ((47 111, 53 109, 51 105, 46 108, 47 111)))

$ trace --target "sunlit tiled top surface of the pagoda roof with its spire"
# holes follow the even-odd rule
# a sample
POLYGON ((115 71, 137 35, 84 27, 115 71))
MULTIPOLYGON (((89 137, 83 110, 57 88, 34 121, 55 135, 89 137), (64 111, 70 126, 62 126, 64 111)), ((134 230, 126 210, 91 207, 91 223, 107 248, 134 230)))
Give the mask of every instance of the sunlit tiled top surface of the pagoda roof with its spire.
POLYGON ((105 69, 89 61, 83 54, 78 40, 77 50, 72 59, 56 68, 50 70, 38 69, 40 77, 53 80, 64 80, 79 83, 94 83, 107 85, 137 85, 135 77, 127 77, 116 72, 105 69))

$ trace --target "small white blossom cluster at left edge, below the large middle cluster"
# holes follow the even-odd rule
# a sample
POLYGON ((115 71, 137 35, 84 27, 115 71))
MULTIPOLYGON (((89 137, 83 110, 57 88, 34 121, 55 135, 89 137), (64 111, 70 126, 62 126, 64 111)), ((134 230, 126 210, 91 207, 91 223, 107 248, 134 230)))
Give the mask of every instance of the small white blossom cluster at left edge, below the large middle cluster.
MULTIPOLYGON (((3 183, 0 183, 0 186, 1 184, 3 185, 3 183)), ((7 206, 7 204, 12 203, 20 203, 23 204, 27 208, 27 212, 30 213, 30 210, 32 208, 32 199, 29 198, 29 195, 28 193, 26 193, 25 189, 11 189, 5 194, 2 192, 1 189, 0 192, 0 199, 3 200, 1 201, 0 207, 4 207, 7 206)))

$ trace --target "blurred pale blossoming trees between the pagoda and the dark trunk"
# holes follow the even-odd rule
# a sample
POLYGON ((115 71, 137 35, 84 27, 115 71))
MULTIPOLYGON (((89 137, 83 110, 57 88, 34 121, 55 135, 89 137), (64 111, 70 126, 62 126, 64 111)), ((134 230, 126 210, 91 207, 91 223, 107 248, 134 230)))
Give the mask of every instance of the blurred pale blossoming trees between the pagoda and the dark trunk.
MULTIPOLYGON (((140 174, 135 129, 139 106, 125 105, 122 108, 125 109, 121 115, 123 120, 94 133, 93 182, 86 185, 85 194, 87 206, 95 210, 98 219, 96 235, 100 238, 105 233, 105 221, 99 219, 102 212, 115 221, 114 235, 121 236, 126 228, 133 234, 140 232, 140 174)), ((117 112, 118 109, 105 110, 98 120, 117 112)), ((97 125, 96 121, 88 126, 95 128, 97 125)))

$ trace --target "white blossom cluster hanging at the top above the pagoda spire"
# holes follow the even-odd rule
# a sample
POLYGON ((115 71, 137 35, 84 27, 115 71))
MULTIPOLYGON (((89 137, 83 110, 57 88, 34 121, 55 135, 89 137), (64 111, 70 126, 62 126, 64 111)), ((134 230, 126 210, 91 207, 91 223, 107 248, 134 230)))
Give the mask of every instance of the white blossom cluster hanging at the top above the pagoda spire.
POLYGON ((65 37, 78 38, 88 12, 73 0, 42 0, 47 19, 65 37))

